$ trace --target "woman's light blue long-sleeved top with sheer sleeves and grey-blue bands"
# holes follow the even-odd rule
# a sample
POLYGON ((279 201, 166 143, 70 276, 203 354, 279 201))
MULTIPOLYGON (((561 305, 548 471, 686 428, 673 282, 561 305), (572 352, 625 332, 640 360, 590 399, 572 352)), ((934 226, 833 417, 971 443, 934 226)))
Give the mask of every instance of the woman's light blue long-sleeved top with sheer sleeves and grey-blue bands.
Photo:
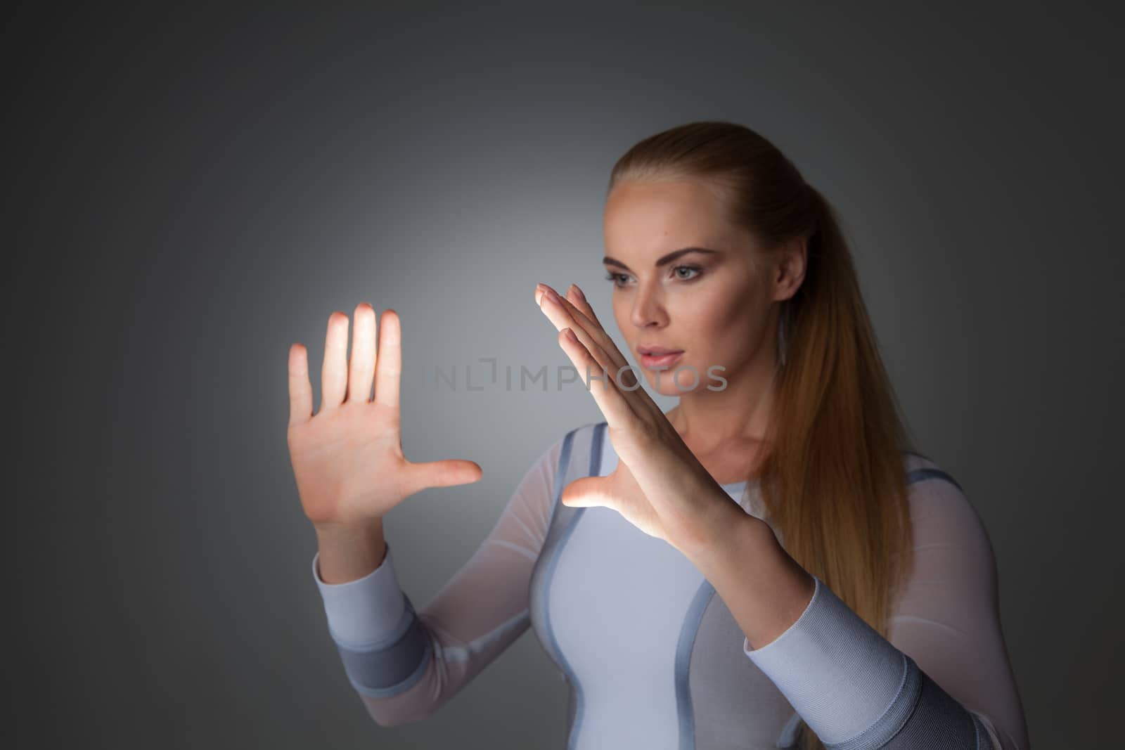
MULTIPOLYGON (((363 578, 325 584, 317 557, 313 576, 345 674, 382 725, 430 715, 531 626, 569 686, 568 748, 796 747, 803 720, 832 750, 1028 750, 987 532, 952 477, 904 455, 915 569, 890 640, 817 578, 801 616, 750 649, 675 548, 609 508, 561 505, 567 484, 616 466, 604 422, 541 455, 421 612, 389 544, 363 578)), ((765 518, 756 481, 723 488, 765 518)))

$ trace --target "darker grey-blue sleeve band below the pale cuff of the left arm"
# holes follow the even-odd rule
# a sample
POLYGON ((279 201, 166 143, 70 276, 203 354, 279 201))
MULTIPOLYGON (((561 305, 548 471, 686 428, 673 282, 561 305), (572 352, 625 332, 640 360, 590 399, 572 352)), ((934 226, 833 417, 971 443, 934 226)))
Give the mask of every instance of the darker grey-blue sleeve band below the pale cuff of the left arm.
POLYGON ((397 695, 408 689, 433 656, 430 638, 408 599, 399 622, 387 641, 371 648, 336 644, 348 679, 367 695, 397 695))

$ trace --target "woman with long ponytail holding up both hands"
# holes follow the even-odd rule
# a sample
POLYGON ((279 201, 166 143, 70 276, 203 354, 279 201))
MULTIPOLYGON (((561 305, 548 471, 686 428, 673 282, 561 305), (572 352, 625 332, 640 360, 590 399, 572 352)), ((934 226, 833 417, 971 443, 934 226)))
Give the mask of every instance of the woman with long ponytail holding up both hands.
POLYGON ((328 319, 315 417, 290 350, 313 576, 375 721, 433 713, 531 625, 572 748, 1028 750, 988 534, 909 450, 820 193, 753 130, 692 123, 619 160, 604 240, 618 327, 680 404, 660 412, 577 287, 537 287, 605 421, 542 453, 421 611, 381 518, 480 468, 403 457, 393 311, 376 358, 356 309, 350 363, 328 319))

